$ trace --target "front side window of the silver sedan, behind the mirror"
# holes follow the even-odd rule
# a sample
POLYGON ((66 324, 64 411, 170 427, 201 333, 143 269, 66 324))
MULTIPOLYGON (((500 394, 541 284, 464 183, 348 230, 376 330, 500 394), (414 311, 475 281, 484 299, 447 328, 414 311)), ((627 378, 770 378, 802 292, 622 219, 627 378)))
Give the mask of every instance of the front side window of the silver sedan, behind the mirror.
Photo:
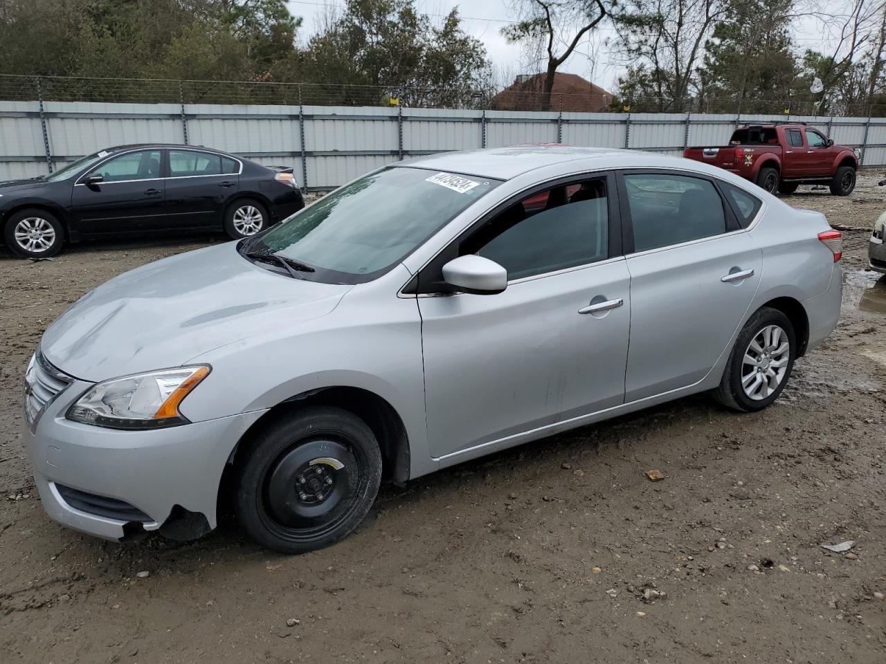
POLYGON ((511 205, 462 242, 520 279, 594 263, 609 255, 606 180, 561 185, 511 205))

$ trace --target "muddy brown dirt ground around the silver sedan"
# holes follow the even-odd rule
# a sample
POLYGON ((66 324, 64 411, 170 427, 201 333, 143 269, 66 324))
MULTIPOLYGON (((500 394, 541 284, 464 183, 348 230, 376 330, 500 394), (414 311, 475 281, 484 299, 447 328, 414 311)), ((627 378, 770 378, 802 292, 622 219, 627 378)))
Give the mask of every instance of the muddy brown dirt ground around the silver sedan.
POLYGON ((22 449, 43 329, 207 238, 0 254, 0 661, 882 664, 886 281, 864 272, 879 177, 788 198, 844 231, 843 317, 765 412, 685 398, 386 486, 359 532, 289 558, 231 523, 190 544, 64 529, 22 449), (849 539, 850 555, 820 548, 849 539))

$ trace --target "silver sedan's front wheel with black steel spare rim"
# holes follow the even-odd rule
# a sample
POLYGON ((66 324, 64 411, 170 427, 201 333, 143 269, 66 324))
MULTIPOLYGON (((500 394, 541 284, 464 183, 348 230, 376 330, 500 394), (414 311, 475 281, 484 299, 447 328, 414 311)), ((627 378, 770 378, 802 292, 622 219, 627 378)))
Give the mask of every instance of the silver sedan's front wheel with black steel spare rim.
POLYGON ((252 443, 236 469, 234 511, 246 534, 268 549, 305 553, 335 544, 376 499, 381 452, 354 413, 305 408, 272 421, 252 443))

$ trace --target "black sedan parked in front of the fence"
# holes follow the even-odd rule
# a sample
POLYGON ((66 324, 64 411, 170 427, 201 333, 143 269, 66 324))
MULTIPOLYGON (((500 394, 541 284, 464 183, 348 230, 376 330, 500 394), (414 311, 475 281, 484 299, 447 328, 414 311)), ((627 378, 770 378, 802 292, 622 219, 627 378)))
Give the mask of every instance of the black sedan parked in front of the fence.
POLYGON ((305 206, 291 168, 187 145, 108 148, 49 176, 0 182, 6 245, 29 258, 126 233, 255 235, 305 206))

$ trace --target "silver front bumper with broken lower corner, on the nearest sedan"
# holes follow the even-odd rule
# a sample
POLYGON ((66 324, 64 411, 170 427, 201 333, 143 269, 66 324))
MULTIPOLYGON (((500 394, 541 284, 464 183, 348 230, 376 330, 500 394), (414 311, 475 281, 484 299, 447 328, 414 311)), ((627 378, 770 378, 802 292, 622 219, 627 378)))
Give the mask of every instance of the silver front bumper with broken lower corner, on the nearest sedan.
POLYGON ((51 519, 106 539, 128 534, 128 523, 133 521, 69 504, 63 494, 73 489, 135 507, 147 517, 136 521, 136 529, 159 529, 175 506, 203 514, 209 528, 215 528, 225 464, 237 441, 264 411, 147 431, 66 420, 68 407, 90 386, 72 382, 46 406, 35 431, 27 423, 23 431, 37 490, 51 519))

